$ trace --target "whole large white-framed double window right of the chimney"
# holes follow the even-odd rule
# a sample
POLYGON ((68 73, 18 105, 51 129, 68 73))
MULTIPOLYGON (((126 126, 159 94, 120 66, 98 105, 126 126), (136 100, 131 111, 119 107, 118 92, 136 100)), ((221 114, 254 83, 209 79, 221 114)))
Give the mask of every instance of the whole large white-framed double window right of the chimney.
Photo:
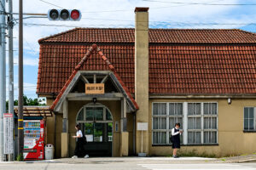
POLYGON ((154 103, 152 115, 153 144, 171 144, 169 138, 176 122, 184 128, 181 143, 218 143, 217 103, 154 103))

